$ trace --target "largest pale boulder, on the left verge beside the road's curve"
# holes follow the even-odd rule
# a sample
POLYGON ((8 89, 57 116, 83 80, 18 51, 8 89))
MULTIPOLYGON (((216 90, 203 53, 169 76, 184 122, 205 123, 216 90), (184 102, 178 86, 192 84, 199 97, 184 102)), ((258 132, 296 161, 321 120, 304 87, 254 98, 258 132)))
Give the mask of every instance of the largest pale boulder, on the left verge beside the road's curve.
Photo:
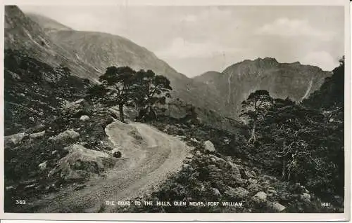
POLYGON ((87 149, 80 144, 63 148, 68 155, 58 161, 48 177, 60 177, 63 180, 86 180, 91 175, 99 175, 115 164, 115 158, 102 151, 87 149))

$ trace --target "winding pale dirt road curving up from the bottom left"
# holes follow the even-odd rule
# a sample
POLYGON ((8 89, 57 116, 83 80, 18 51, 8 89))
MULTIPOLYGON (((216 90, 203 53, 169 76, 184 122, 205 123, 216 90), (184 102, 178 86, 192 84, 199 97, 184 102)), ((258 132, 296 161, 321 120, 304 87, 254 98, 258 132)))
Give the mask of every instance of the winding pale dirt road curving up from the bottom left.
POLYGON ((189 155, 184 142, 143 123, 115 121, 106 134, 122 158, 106 177, 92 179, 79 191, 64 189, 40 201, 36 212, 113 212, 116 206, 106 201, 125 201, 150 193, 168 175, 180 170, 189 155))

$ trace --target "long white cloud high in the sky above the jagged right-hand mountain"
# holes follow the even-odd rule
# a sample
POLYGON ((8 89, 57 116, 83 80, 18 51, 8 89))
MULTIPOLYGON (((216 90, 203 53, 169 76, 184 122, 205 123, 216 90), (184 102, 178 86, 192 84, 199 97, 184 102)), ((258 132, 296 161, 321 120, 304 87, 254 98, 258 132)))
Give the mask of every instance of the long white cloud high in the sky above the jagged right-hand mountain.
POLYGON ((332 40, 333 32, 324 32, 312 27, 308 20, 278 18, 257 29, 256 34, 278 36, 312 36, 323 41, 332 40))

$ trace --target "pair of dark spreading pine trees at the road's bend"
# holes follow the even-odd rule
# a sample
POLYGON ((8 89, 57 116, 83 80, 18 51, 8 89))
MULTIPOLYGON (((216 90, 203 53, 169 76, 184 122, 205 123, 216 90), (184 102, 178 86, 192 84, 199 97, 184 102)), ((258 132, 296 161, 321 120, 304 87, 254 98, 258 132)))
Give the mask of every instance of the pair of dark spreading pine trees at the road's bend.
POLYGON ((150 114, 155 118, 154 106, 165 104, 172 90, 165 76, 151 70, 135 72, 130 67, 108 67, 99 81, 89 88, 89 98, 108 106, 118 105, 121 121, 124 121, 125 105, 137 108, 138 119, 150 114))

